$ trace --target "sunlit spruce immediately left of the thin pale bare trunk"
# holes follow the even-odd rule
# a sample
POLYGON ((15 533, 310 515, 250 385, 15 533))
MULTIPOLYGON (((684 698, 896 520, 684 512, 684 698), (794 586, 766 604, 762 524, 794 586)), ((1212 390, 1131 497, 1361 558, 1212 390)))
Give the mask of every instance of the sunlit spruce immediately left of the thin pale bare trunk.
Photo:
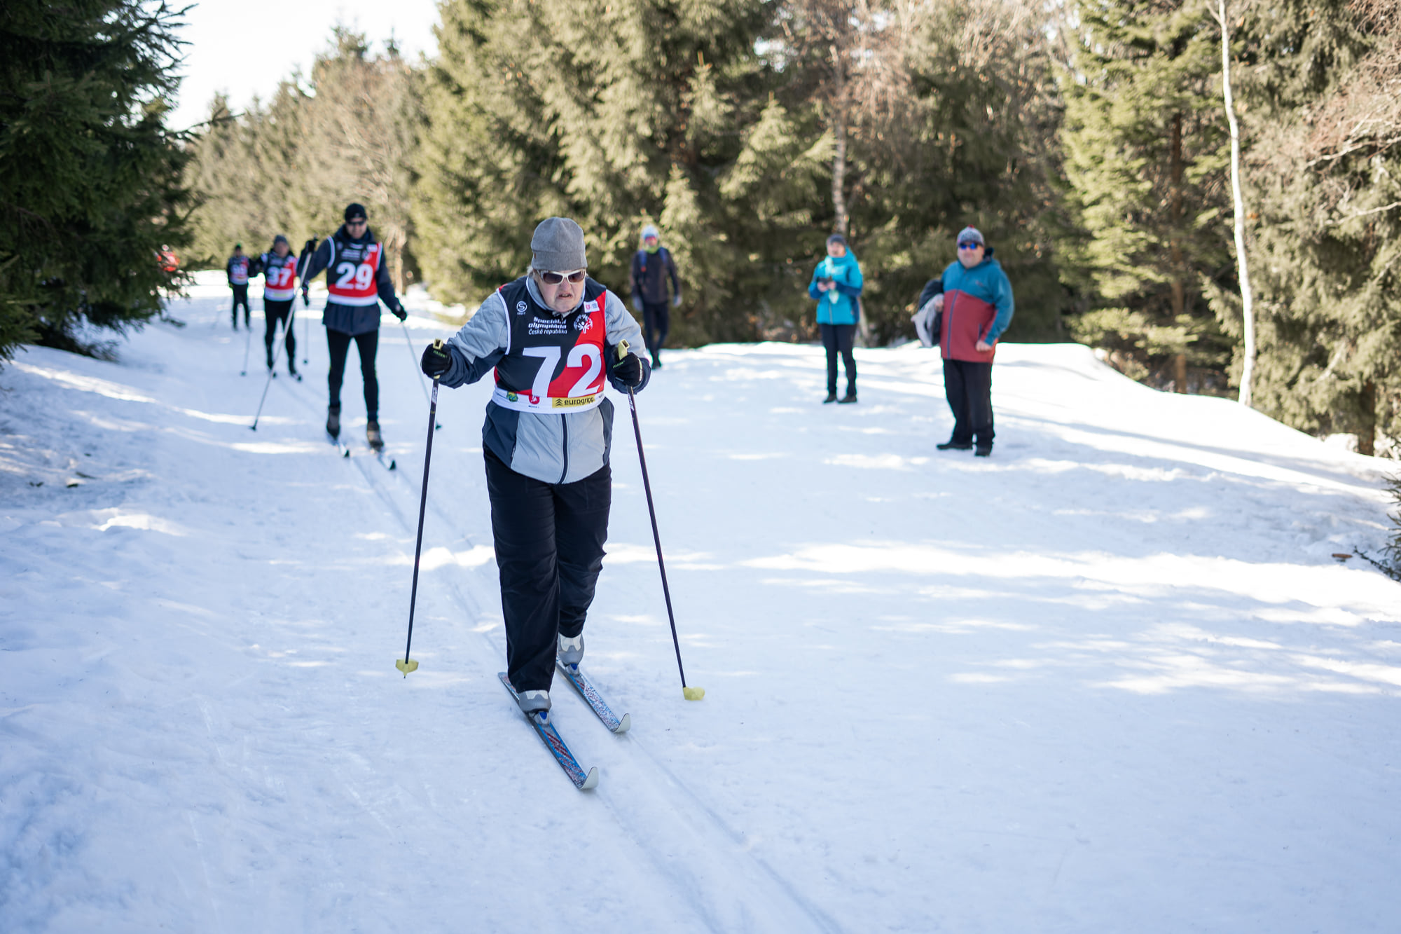
POLYGON ((1219 34, 1180 0, 1076 10, 1061 136, 1076 334, 1138 379, 1224 393, 1230 345, 1202 297, 1234 280, 1219 34))

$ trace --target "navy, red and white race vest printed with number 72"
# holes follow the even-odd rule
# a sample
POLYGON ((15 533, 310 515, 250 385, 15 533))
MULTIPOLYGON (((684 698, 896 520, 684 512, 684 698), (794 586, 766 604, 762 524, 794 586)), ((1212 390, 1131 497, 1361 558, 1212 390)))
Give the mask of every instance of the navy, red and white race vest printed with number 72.
POLYGON ((584 303, 563 317, 535 303, 525 279, 497 289, 510 346, 496 365, 492 401, 518 412, 581 412, 604 401, 607 289, 584 280, 584 303))

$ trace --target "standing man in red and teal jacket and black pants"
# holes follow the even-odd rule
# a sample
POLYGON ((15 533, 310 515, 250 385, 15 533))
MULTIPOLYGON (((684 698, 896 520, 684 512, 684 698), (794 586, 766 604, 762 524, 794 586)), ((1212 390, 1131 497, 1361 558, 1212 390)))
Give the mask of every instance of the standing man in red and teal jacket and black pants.
POLYGON ((954 412, 954 432, 939 450, 992 453, 992 358, 1012 324, 1012 283, 975 227, 958 231, 958 261, 930 279, 919 306, 933 299, 940 313, 939 346, 944 358, 944 395, 954 412))

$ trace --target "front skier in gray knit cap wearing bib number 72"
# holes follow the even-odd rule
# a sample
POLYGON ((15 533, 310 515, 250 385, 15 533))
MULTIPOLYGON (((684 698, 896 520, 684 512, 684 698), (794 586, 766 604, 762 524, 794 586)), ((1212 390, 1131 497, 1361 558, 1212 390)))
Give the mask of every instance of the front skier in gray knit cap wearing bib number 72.
POLYGON ((549 217, 531 237, 530 271, 488 297, 423 372, 444 386, 495 367, 482 429, 492 534, 506 617, 506 669, 527 714, 548 717, 555 655, 577 665, 602 569, 612 478, 612 402, 651 367, 622 300, 587 276, 584 231, 549 217), (628 341, 626 356, 618 345, 628 341))

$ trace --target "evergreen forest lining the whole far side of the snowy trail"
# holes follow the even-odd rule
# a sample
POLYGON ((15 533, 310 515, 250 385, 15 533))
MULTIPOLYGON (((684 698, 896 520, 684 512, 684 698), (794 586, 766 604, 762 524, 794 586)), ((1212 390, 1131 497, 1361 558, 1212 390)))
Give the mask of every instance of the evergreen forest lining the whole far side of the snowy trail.
POLYGON ((1401 454, 1401 0, 443 0, 434 57, 336 28, 179 133, 177 14, 64 8, 0 22, 0 359, 97 348, 179 287, 170 252, 219 268, 350 201, 401 287, 469 309, 545 216, 621 293, 656 223, 679 345, 813 339, 832 231, 862 339, 909 338, 974 224, 1007 339, 1401 454))

